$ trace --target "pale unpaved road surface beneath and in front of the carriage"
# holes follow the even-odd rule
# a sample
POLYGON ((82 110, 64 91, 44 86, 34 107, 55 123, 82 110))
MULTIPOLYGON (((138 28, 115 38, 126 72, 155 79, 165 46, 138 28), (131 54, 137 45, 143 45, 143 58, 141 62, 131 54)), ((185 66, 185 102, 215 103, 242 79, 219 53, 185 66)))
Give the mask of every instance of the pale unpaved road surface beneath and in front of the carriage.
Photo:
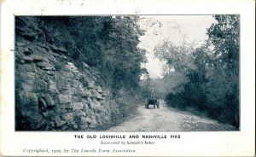
POLYGON ((168 108, 161 100, 160 109, 154 109, 153 105, 146 109, 142 104, 136 116, 108 131, 235 131, 235 128, 216 120, 168 108))

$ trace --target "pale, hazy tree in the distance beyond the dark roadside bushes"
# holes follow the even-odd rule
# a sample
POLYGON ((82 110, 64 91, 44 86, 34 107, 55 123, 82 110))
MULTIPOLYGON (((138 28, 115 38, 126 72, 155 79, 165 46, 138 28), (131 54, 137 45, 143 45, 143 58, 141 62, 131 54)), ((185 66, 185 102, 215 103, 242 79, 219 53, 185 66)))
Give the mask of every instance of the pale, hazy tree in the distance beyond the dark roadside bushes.
POLYGON ((188 83, 189 69, 194 69, 193 46, 183 42, 175 45, 171 41, 164 41, 154 48, 154 56, 166 62, 164 80, 166 90, 172 94, 182 92, 184 84, 188 83))

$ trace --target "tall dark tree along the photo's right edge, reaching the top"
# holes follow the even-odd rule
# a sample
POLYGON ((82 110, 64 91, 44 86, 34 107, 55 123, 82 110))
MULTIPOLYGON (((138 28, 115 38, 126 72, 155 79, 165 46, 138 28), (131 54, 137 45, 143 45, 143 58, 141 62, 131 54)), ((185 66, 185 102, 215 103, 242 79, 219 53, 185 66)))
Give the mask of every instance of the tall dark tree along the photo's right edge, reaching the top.
POLYGON ((222 121, 239 127, 239 15, 215 15, 218 21, 207 30, 212 44, 212 70, 206 85, 207 99, 221 108, 222 121), (214 88, 212 88, 214 87, 214 88))

